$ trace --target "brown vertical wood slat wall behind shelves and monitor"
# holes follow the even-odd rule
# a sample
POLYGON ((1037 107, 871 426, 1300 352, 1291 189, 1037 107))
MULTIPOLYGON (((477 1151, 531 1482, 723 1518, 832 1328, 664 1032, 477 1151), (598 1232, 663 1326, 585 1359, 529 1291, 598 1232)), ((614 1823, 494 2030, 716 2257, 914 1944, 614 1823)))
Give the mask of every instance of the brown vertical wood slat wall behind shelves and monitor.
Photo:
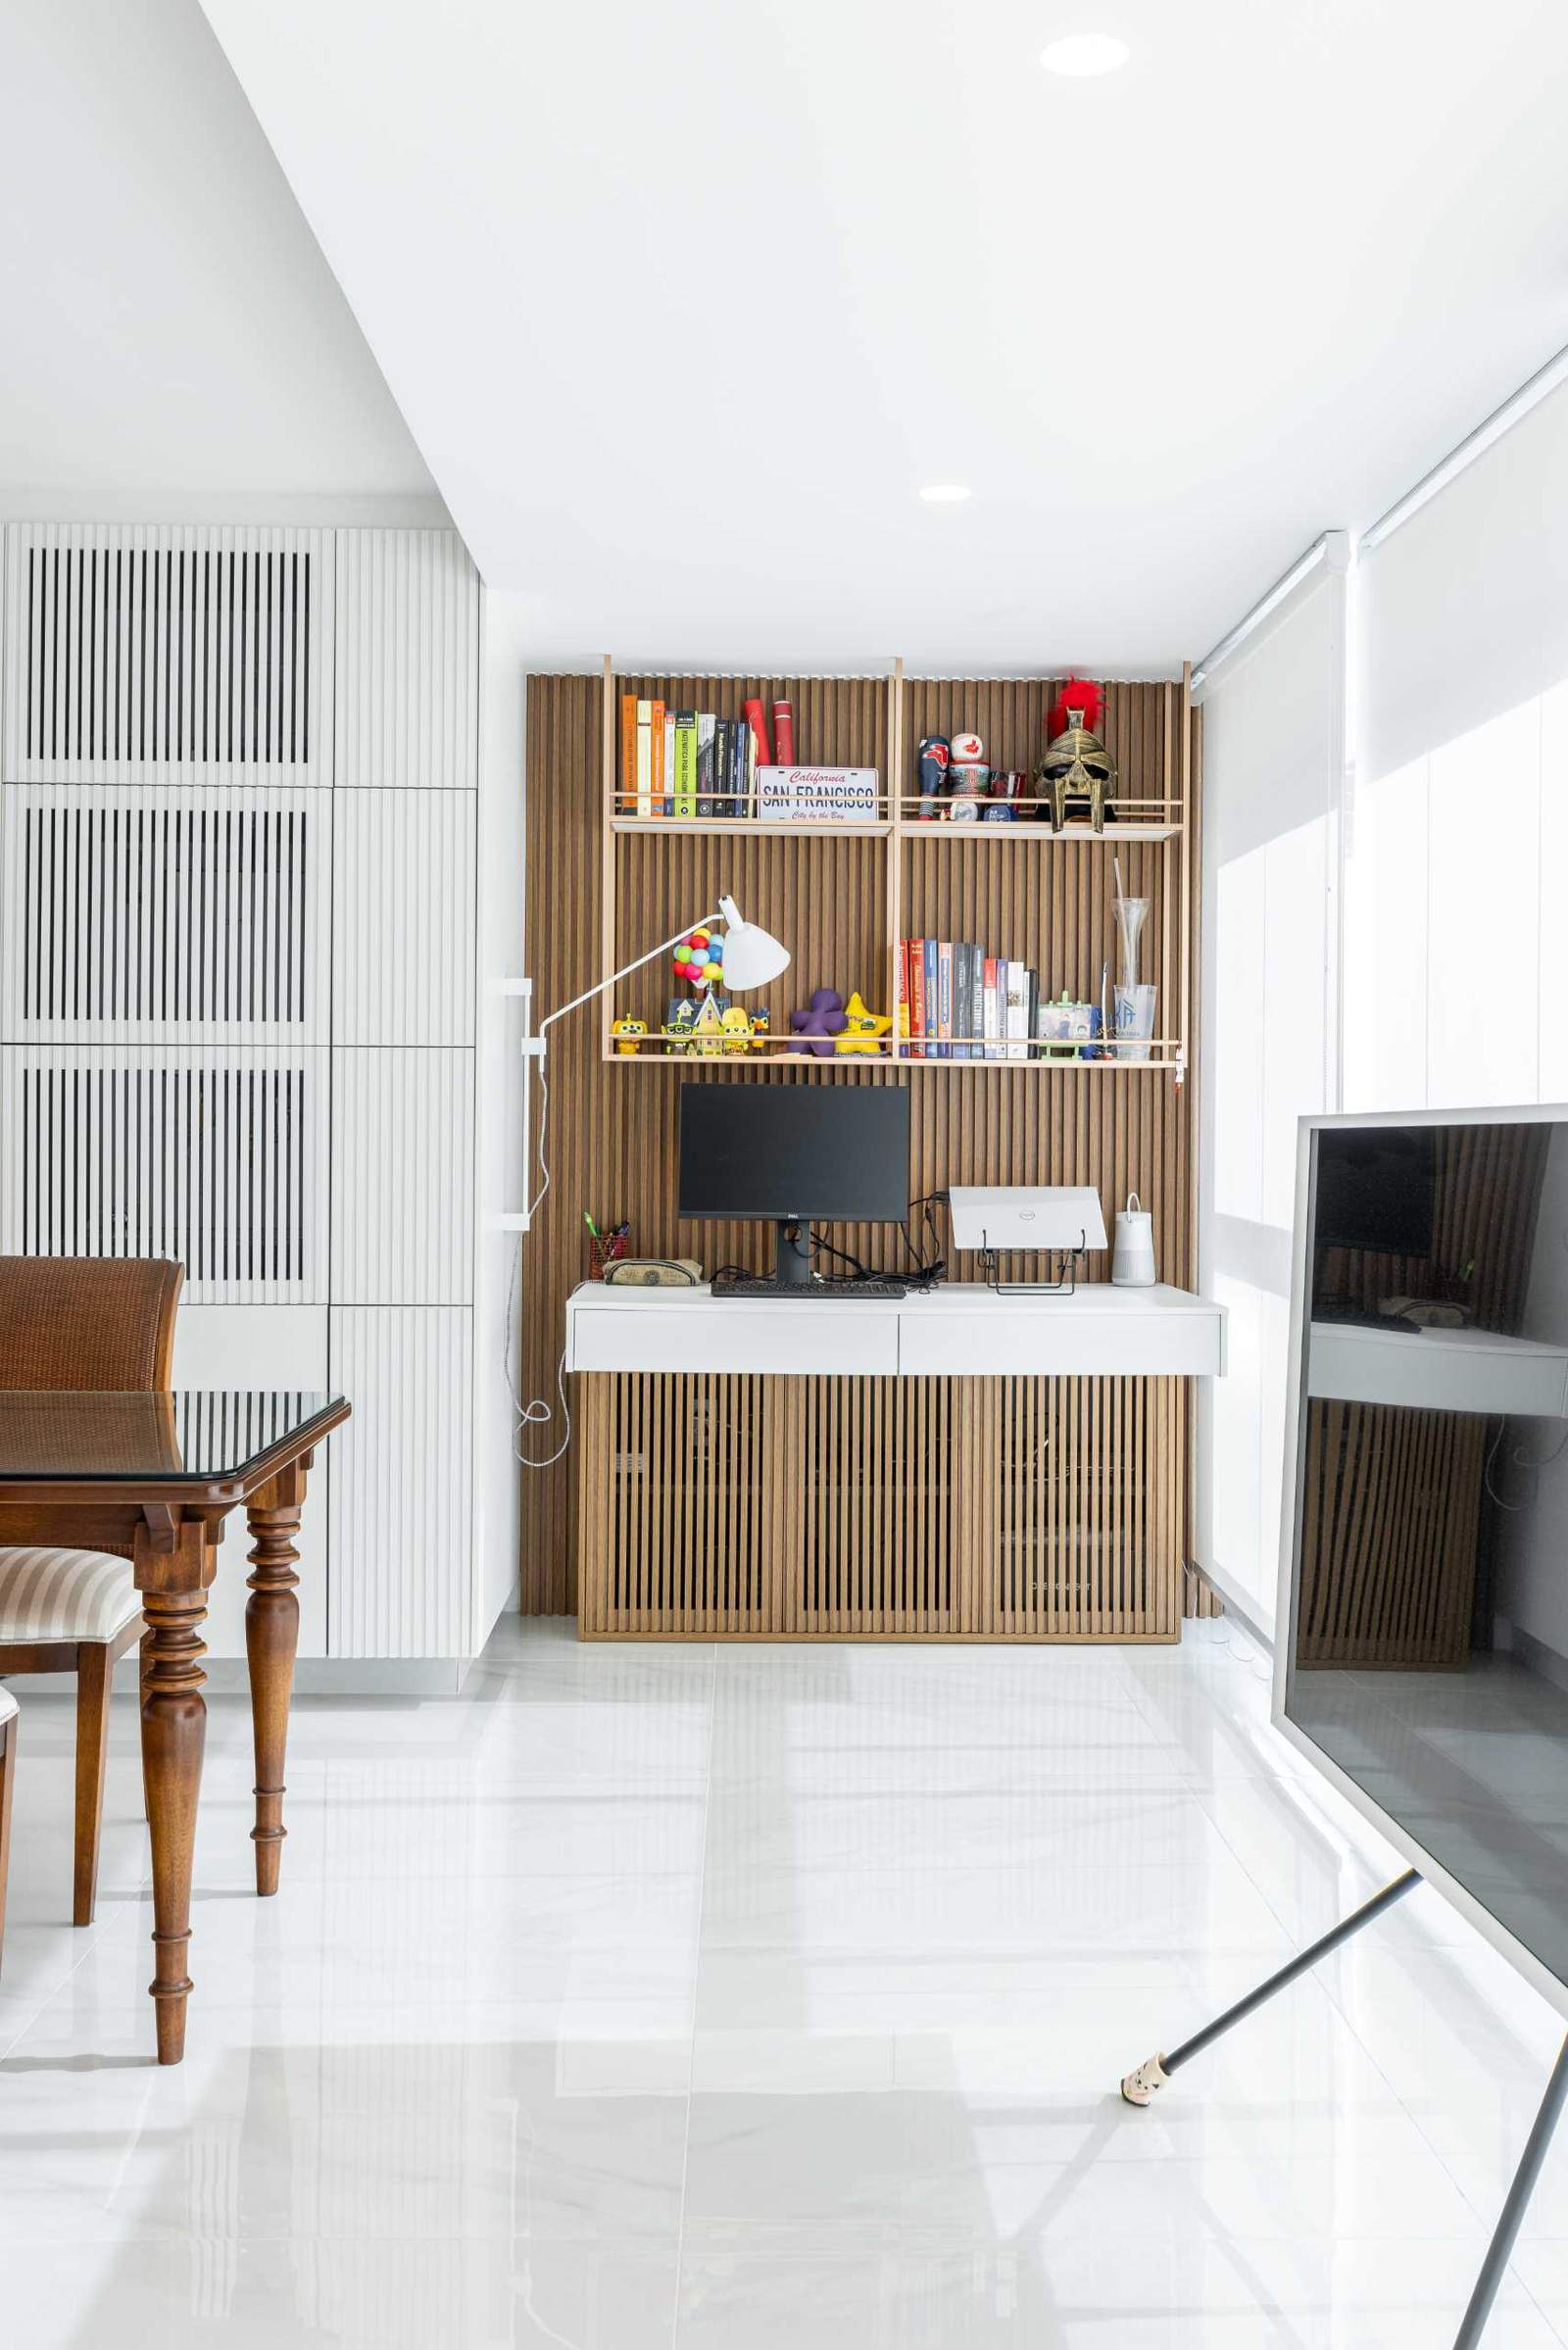
MULTIPOLYGON (((997 766, 1032 766, 1044 743, 1053 686, 1027 682, 851 679, 672 679, 618 677, 616 693, 658 696, 682 707, 738 717, 750 693, 764 703, 790 696, 802 759, 877 766, 889 773, 896 738, 903 780, 912 787, 914 743, 929 731, 973 724, 997 766), (943 724, 947 721, 947 724, 943 724)), ((776 834, 609 832, 604 825, 604 679, 531 677, 527 724, 529 902, 527 971, 536 1015, 590 987, 618 961, 670 935, 729 888, 792 949, 795 964, 771 992, 776 1032, 813 987, 860 987, 877 1008, 891 978, 896 935, 983 938, 1001 952, 1044 966, 1053 994, 1098 992, 1110 952, 1110 851, 1063 844, 947 846, 896 839, 776 834), (614 862, 611 862, 614 860, 614 862), (945 862, 938 862, 945 860, 945 862), (602 938, 604 879, 614 874, 616 926, 602 938), (1098 872, 1098 888, 1095 888, 1098 872), (903 900, 903 902, 900 902, 903 900), (938 916, 950 916, 954 928, 938 916), (959 926, 961 921, 961 926, 959 926), (614 952, 614 961, 604 961, 614 952)), ((1190 714, 1182 761, 1182 693, 1171 684, 1117 684, 1107 691, 1107 738, 1121 761, 1121 787, 1138 797, 1182 797, 1187 785, 1187 867, 1199 858, 1199 714, 1190 714)), ((1175 844, 1180 848, 1180 844, 1175 844)), ((1180 881, 1180 858, 1164 844, 1126 844, 1124 886, 1157 900, 1145 931, 1145 975, 1161 985, 1161 1013, 1182 1029, 1192 1065, 1197 1039, 1185 1006, 1185 971, 1197 956, 1194 909, 1180 881), (1168 860, 1168 862, 1161 862, 1168 860), (1161 888, 1161 881, 1168 884, 1161 888), (1147 886, 1145 886, 1147 884, 1147 886), (1159 900, 1171 909, 1161 921, 1159 900), (1182 931, 1190 956, 1182 954, 1182 931), (1166 1010, 1168 1006, 1168 1010, 1166 1010)), ((672 994, 668 971, 649 966, 621 989, 623 1013, 654 1022, 672 994)), ((771 1234, 757 1224, 682 1224, 675 1215, 675 1119, 682 1076, 705 1083, 900 1083, 912 1093, 912 1191, 952 1182, 1093 1182, 1105 1220, 1138 1191, 1154 1213, 1164 1281, 1194 1278, 1194 1119, 1192 1079, 1168 1069, 1098 1074, 1074 1065, 952 1067, 900 1065, 726 1065, 663 1058, 602 1060, 602 1020, 588 1006, 550 1041, 550 1196, 524 1238, 522 1379, 524 1396, 555 1398, 564 1302, 588 1271, 583 1210, 599 1222, 632 1222, 637 1255, 701 1255, 764 1269, 771 1234)), ((905 1264, 889 1227, 842 1227, 832 1238, 877 1269, 905 1264)), ((1110 1276, 1110 1255, 1091 1278, 1110 1276)), ((588 1382, 576 1382, 585 1386, 588 1382)), ((1185 1462, 1187 1394, 1178 1389, 1175 1450, 1185 1462)), ((557 1436, 527 1431, 538 1455, 557 1436)), ((543 1471, 522 1471, 522 1612, 576 1610, 578 1443, 543 1471)), ((1173 1492, 1185 1530, 1187 1480, 1173 1492)), ((1185 1532, 1173 1551, 1185 1546, 1185 1532)))

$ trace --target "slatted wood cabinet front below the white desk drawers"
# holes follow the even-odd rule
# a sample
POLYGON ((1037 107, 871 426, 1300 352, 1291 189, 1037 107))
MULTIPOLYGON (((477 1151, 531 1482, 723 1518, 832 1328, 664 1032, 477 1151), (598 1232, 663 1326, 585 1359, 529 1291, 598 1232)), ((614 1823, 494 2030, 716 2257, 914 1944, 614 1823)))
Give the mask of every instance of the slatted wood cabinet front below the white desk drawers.
POLYGON ((585 1638, 1175 1631, 1175 1379, 578 1384, 585 1638))

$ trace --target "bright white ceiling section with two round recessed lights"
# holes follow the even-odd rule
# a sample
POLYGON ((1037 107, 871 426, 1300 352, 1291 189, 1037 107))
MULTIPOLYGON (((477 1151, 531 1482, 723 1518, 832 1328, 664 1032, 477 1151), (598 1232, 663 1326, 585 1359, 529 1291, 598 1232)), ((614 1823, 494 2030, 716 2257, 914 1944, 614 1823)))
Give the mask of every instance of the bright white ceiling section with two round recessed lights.
POLYGON ((1168 670, 1568 341, 1547 0, 202 5, 567 663, 1168 670))

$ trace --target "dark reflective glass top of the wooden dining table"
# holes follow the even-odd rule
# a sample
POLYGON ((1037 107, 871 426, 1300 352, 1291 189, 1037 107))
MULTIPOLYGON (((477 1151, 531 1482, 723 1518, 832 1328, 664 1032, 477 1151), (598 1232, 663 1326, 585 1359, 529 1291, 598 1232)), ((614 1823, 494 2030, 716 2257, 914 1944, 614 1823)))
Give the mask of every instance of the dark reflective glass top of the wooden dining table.
POLYGON ((244 1478, 280 1445, 348 1412, 346 1398, 299 1386, 0 1389, 0 1483, 160 1478, 214 1485, 244 1478))

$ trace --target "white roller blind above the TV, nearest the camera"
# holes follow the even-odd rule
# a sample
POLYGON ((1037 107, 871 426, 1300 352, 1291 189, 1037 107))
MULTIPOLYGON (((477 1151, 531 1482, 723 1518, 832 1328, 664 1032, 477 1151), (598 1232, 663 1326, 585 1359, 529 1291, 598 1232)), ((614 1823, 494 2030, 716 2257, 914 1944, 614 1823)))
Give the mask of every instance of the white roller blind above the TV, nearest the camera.
POLYGON ((1345 1107, 1568 1100, 1568 388, 1354 583, 1345 1107))

